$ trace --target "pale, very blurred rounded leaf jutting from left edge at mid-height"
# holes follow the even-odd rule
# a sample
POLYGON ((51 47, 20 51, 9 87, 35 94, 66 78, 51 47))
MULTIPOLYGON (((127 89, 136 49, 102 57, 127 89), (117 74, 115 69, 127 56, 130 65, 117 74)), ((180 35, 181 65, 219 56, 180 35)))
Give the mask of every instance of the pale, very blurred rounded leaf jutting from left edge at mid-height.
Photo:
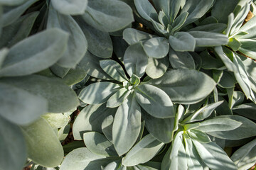
POLYGON ((36 96, 9 84, 0 84, 0 115, 18 125, 36 120, 47 112, 46 98, 36 96))

